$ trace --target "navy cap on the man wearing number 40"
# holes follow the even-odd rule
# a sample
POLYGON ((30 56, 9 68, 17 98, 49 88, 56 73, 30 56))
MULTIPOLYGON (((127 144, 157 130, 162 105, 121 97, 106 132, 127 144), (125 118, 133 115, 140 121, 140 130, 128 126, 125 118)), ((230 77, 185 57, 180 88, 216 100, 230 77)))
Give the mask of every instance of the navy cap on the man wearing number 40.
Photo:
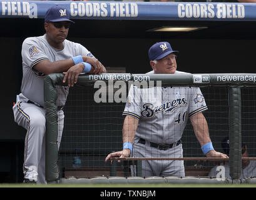
POLYGON ((172 53, 178 53, 178 51, 173 51, 169 42, 156 42, 150 47, 150 50, 148 50, 148 57, 150 61, 154 61, 172 53))

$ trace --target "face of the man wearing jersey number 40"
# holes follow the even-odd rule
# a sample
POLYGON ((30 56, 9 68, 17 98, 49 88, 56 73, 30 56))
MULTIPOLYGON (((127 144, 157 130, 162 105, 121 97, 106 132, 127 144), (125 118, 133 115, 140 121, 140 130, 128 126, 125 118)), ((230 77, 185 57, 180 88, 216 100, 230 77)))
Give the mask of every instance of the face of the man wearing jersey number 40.
POLYGON ((174 74, 177 69, 176 55, 174 53, 157 60, 156 63, 150 61, 155 74, 174 74))

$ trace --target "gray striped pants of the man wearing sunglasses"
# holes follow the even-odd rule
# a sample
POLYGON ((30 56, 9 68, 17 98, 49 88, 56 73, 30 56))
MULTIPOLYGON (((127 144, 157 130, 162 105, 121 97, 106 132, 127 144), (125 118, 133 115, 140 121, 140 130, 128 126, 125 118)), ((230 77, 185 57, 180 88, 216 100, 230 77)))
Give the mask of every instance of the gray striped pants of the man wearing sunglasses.
MULTIPOLYGON (((45 131, 46 118, 43 108, 26 103, 20 99, 13 106, 14 121, 27 130, 24 146, 24 178, 33 179, 38 184, 46 184, 45 180, 45 131)), ((63 110, 58 111, 58 149, 64 127, 63 110)))

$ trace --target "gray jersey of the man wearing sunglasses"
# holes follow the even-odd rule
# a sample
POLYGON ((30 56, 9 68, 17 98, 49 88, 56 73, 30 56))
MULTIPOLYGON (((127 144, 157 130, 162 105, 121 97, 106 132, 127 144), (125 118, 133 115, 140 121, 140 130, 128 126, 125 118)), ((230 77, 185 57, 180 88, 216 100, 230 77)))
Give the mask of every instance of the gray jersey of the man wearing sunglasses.
MULTIPOLYGON (((76 42, 65 39, 62 50, 54 49, 46 40, 46 34, 39 37, 28 37, 24 40, 21 56, 23 58, 23 80, 21 93, 26 98, 44 106, 44 78, 45 74, 36 71, 35 64, 48 59, 49 61, 59 61, 69 59, 73 56, 94 57, 84 46, 76 42)), ((68 96, 68 87, 58 86, 57 106, 64 105, 68 96)))

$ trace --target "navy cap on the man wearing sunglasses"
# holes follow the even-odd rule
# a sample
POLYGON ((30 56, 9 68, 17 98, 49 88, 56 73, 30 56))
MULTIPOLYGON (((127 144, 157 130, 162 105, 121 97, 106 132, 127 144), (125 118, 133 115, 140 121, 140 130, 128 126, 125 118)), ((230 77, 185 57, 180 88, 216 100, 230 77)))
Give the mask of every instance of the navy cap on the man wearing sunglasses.
MULTIPOLYGON (((58 22, 58 21, 70 21, 69 19, 69 10, 66 8, 63 8, 61 6, 55 5, 46 11, 44 22, 46 21, 52 21, 52 22, 58 22)), ((73 22, 74 23, 74 22, 73 22)))

